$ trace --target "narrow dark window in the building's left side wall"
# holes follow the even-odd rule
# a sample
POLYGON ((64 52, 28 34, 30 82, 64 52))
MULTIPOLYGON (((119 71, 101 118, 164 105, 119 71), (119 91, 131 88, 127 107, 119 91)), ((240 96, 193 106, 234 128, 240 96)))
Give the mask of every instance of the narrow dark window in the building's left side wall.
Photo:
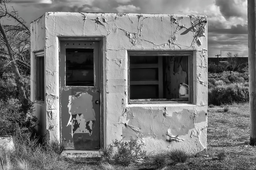
POLYGON ((44 52, 35 54, 36 58, 36 100, 44 101, 44 52))

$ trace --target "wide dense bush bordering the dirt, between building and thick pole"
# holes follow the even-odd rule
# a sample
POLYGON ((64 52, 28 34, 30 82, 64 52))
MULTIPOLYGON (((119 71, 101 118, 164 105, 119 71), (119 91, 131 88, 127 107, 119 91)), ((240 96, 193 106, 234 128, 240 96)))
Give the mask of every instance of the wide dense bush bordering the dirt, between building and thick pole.
POLYGON ((247 83, 231 83, 218 85, 208 90, 208 104, 220 105, 221 103, 249 101, 249 87, 247 83))

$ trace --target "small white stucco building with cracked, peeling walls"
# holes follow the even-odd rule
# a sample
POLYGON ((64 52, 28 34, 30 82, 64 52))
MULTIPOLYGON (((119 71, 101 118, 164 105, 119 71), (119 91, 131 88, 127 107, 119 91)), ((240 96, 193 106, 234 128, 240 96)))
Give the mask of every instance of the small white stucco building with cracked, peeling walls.
POLYGON ((47 12, 30 24, 38 131, 67 149, 207 143, 207 17, 47 12))

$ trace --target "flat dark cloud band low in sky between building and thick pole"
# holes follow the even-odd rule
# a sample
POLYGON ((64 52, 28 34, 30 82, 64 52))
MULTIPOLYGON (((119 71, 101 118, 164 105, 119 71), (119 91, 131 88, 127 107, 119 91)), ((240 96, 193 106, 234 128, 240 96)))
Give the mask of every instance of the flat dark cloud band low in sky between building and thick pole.
POLYGON ((219 34, 247 34, 247 24, 241 25, 232 25, 231 28, 218 28, 217 26, 210 26, 208 27, 208 31, 212 33, 219 33, 219 34))

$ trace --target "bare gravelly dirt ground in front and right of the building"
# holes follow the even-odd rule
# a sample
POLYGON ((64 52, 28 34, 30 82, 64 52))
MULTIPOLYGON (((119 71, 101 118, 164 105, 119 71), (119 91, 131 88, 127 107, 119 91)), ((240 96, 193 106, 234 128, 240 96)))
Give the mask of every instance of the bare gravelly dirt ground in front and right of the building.
MULTIPOLYGON (((256 169, 256 147, 248 145, 249 106, 231 105, 229 111, 222 107, 208 108, 207 152, 191 156, 186 164, 168 166, 167 169, 256 169), (218 154, 224 152, 224 159, 218 154)), ((56 169, 89 170, 100 169, 99 158, 60 157, 56 169)), ((115 169, 154 169, 150 161, 115 169)))

